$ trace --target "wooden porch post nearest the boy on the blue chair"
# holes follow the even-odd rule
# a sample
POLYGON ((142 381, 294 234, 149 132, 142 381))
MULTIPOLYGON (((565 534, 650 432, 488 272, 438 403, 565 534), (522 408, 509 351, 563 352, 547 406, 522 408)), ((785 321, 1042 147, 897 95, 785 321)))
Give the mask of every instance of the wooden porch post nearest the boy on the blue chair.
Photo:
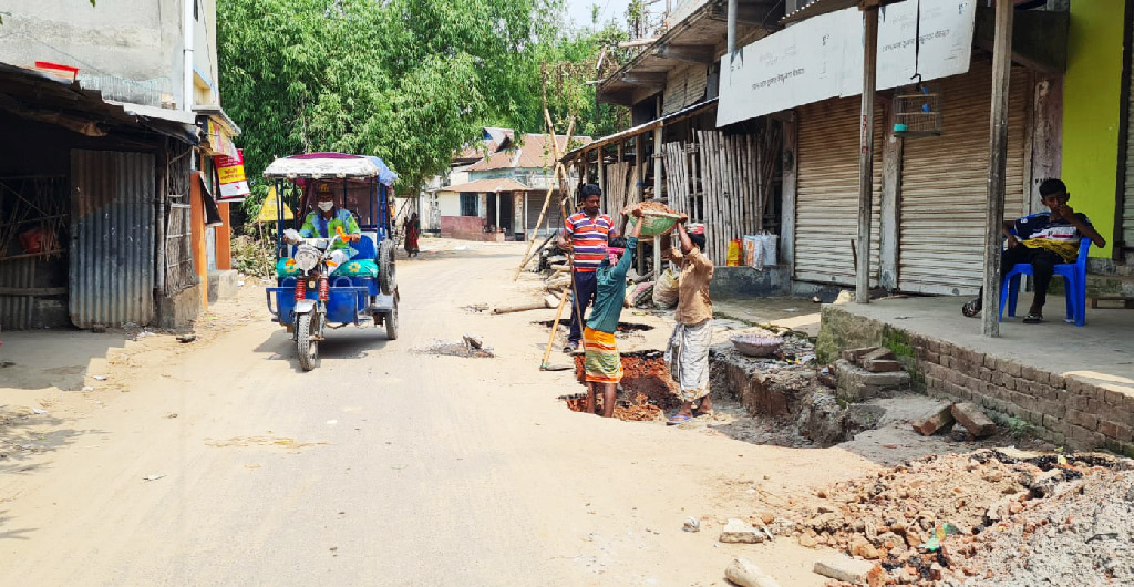
POLYGON ((989 121, 988 214, 984 218, 985 337, 1000 335, 1000 249, 1004 233, 1005 164, 1008 160, 1008 80, 1012 69, 1012 0, 996 2, 992 44, 992 114, 989 121))

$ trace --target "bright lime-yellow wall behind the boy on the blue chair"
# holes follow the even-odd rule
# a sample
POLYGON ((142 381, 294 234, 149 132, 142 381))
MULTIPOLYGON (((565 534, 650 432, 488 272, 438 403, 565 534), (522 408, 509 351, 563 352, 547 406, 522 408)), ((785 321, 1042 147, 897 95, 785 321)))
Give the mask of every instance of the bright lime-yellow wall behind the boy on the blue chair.
POLYGON ((1063 180, 1070 206, 1107 239, 1091 248, 1109 257, 1115 233, 1118 122, 1123 116, 1123 0, 1072 0, 1064 86, 1063 180))

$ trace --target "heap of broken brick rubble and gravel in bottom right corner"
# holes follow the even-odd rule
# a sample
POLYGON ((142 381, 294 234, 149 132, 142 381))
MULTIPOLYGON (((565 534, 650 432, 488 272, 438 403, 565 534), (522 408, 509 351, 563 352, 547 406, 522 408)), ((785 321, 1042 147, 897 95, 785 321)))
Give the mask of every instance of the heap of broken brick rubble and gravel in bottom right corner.
MULTIPOLYGON (((932 456, 820 490, 816 502, 776 525, 804 546, 826 545, 878 562, 885 571, 880 585, 1007 585, 1009 576, 1025 577, 1010 582, 1019 586, 1046 578, 1052 585, 1106 585, 1059 578, 1080 578, 1081 567, 1101 569, 1099 578, 1134 577, 1134 558, 1118 548, 1134 533, 1127 524, 1134 521, 1134 480, 1119 470, 1127 463, 1008 449, 932 456), (1090 499, 1081 496, 1086 490, 1094 492, 1090 499), (1123 529, 1111 530, 1111 520, 1123 529), (1068 533, 1074 536, 1064 536, 1068 533), (1115 533, 1118 538, 1085 542, 1115 533), (934 535, 945 536, 941 548, 922 547, 934 535)), ((1120 584, 1128 582, 1112 585, 1120 584)))

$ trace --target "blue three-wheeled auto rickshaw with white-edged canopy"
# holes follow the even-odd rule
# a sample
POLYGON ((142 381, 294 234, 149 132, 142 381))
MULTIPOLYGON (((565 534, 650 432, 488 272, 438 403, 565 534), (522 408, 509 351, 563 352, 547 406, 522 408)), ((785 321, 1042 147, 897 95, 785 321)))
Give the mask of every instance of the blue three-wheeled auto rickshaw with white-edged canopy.
MULTIPOLYGON (((319 364, 319 343, 327 327, 367 322, 386 326, 389 340, 398 338, 398 287, 390 202, 397 179, 375 156, 308 153, 277 159, 264 170, 279 199, 276 239, 276 287, 266 288, 268 309, 296 343, 299 366, 319 364), (337 209, 348 211, 362 236, 353 240, 341 229, 301 235, 316 195, 330 193, 337 209), (296 213, 285 219, 285 207, 296 213), (342 244, 347 246, 342 247, 342 244), (347 252, 332 255, 336 249, 347 252), (274 298, 274 299, 273 299, 274 298)), ((316 222, 318 224, 318 222, 316 222)))

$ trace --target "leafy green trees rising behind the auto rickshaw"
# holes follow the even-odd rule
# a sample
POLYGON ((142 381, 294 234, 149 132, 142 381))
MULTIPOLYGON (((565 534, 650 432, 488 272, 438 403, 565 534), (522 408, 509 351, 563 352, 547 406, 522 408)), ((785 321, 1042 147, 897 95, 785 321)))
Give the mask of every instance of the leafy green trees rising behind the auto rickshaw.
POLYGON ((595 116, 594 65, 616 27, 572 29, 562 0, 219 0, 225 108, 244 130, 251 177, 311 151, 374 154, 415 192, 483 126, 542 131, 548 95, 578 134, 595 116))

